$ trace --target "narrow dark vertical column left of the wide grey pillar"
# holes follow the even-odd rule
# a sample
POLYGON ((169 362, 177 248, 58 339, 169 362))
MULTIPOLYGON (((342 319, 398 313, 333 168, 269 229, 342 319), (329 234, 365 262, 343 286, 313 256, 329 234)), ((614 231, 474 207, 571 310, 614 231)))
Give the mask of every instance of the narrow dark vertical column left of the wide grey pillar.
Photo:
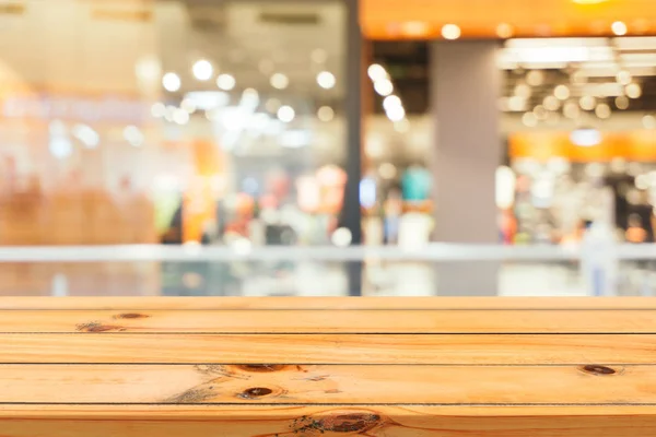
MULTIPOLYGON (((362 244, 360 180, 362 179, 362 31, 360 1, 343 0, 347 11, 345 111, 347 119, 347 186, 341 225, 351 232, 351 244, 362 244)), ((349 294, 362 294, 362 262, 348 265, 349 294)))

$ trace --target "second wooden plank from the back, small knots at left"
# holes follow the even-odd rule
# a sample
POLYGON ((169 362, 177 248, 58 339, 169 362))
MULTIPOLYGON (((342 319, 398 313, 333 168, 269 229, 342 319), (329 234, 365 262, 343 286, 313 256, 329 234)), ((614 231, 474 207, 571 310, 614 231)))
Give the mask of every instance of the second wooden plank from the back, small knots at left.
POLYGON ((656 310, 4 310, 0 332, 656 333, 656 310))

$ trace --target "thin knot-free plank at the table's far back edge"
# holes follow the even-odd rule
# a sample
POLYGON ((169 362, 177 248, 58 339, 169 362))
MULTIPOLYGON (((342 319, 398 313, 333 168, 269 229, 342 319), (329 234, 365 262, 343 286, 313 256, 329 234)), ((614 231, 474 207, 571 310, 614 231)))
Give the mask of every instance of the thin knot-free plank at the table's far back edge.
POLYGON ((0 309, 656 309, 651 297, 0 297, 0 309))

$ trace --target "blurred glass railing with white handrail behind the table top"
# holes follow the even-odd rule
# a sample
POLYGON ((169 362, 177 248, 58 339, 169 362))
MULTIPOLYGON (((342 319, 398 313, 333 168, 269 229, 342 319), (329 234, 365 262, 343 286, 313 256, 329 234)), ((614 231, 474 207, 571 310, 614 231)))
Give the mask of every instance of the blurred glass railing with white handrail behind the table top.
POLYGON ((3 296, 651 296, 656 245, 0 247, 3 296))

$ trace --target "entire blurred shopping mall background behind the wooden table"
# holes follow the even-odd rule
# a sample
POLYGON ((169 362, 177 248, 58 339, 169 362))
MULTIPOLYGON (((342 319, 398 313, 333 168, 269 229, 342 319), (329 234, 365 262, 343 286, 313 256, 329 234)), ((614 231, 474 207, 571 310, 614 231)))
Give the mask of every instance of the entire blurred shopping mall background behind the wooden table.
POLYGON ((652 295, 653 0, 0 0, 0 295, 652 295))

